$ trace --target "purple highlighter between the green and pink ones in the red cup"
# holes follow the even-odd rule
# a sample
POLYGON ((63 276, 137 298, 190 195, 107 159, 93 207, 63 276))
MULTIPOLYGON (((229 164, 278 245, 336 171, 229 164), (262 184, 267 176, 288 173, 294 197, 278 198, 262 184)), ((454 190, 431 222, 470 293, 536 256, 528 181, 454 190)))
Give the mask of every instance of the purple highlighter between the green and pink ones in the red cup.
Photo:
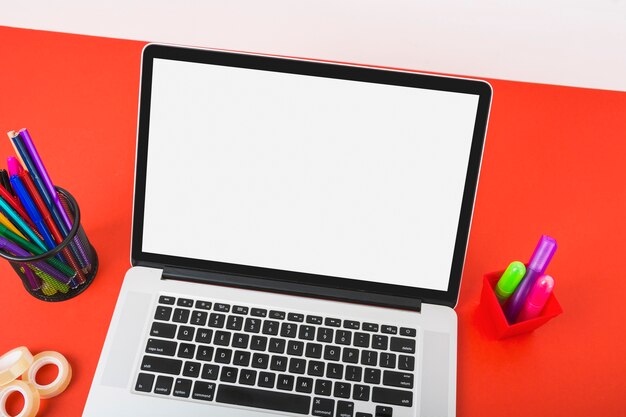
POLYGON ((535 285, 535 281, 546 271, 550 260, 552 260, 552 256, 554 256, 554 252, 556 252, 556 240, 550 236, 542 235, 533 252, 533 256, 528 262, 526 275, 524 275, 522 282, 517 286, 517 289, 504 309, 504 315, 509 324, 513 324, 517 321, 517 316, 522 310, 522 307, 524 307, 528 292, 533 285, 535 285))

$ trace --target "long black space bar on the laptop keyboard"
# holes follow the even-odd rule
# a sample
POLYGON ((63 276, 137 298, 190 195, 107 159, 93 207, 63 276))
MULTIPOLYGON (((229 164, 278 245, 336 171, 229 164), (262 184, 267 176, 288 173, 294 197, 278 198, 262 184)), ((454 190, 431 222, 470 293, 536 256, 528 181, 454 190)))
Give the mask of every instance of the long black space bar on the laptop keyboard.
POLYGON ((311 407, 311 397, 304 395, 285 394, 223 384, 217 390, 215 401, 298 414, 309 414, 311 407))

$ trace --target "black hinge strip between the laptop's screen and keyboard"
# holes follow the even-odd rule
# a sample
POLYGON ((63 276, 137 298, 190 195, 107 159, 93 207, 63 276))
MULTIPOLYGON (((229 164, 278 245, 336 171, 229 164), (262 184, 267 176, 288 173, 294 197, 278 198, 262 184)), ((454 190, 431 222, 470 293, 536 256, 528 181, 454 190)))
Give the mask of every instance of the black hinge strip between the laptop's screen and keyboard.
POLYGON ((165 267, 163 268, 162 279, 224 285, 228 287, 399 308, 417 312, 422 310, 422 302, 416 298, 397 297, 388 294, 377 294, 365 291, 353 291, 318 285, 299 284, 245 275, 230 275, 209 271, 165 267))

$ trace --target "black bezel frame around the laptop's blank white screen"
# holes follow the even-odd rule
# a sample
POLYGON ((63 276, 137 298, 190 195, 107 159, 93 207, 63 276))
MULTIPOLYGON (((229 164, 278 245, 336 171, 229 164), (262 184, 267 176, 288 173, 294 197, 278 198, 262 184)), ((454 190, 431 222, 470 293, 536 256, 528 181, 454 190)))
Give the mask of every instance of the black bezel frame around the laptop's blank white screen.
POLYGON ((134 266, 170 267, 281 281, 287 286, 286 292, 289 292, 289 283, 308 284, 316 287, 340 288, 349 291, 365 292, 374 298, 376 294, 381 294, 392 297, 418 299, 425 303, 441 304, 451 307, 456 305, 478 184, 489 107, 491 104, 492 91, 488 83, 479 80, 435 76, 409 71, 394 71, 357 65, 150 44, 143 50, 140 84, 135 195, 131 239, 131 262, 134 266), (250 68, 263 71, 477 95, 479 97, 478 109, 476 112, 476 122, 470 148, 461 213, 457 226, 457 235, 447 290, 438 291, 419 287, 362 281, 348 277, 316 275, 144 252, 142 249, 144 203, 150 125, 150 100, 152 93, 152 68, 155 59, 250 68))

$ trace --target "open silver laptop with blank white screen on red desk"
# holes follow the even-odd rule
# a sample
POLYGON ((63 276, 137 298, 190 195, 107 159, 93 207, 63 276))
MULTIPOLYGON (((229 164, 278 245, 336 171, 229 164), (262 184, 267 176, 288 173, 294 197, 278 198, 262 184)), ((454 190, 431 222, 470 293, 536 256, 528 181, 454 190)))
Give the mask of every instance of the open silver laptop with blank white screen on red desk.
POLYGON ((454 416, 491 88, 151 44, 84 416, 454 416))

